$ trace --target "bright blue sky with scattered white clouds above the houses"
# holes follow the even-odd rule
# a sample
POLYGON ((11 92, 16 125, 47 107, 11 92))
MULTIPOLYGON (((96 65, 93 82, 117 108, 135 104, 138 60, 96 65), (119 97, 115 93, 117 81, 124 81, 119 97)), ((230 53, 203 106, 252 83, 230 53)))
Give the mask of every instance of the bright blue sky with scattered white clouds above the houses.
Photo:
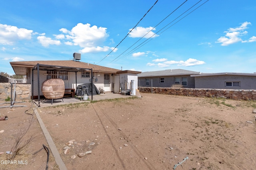
POLYGON ((123 70, 256 72, 255 0, 155 2, 0 2, 0 71, 12 75, 12 61, 70 60, 76 52, 82 62, 123 70))

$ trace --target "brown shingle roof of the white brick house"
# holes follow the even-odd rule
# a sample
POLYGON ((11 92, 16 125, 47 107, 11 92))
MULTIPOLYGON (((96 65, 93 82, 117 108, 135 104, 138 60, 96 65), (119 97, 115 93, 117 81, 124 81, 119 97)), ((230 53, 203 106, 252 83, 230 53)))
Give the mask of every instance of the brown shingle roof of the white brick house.
POLYGON ((16 75, 26 75, 28 68, 33 68, 36 64, 45 64, 52 66, 68 66, 74 68, 89 68, 95 72, 106 72, 106 73, 116 73, 120 70, 115 68, 109 68, 105 66, 99 66, 90 63, 84 63, 79 61, 67 60, 67 61, 16 61, 10 62, 16 75))

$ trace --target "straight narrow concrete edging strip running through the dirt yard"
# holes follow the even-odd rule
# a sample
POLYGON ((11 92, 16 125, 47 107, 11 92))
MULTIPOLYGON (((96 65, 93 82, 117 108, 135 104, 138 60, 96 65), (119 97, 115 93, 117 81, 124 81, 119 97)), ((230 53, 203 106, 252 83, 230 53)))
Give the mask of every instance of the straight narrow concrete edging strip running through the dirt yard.
POLYGON ((37 117, 37 120, 38 120, 38 122, 40 124, 40 127, 41 127, 41 129, 42 129, 42 131, 44 133, 46 141, 47 141, 47 143, 48 143, 48 145, 50 147, 50 150, 51 150, 51 152, 52 152, 52 154, 53 154, 53 156, 55 158, 56 164, 58 165, 60 170, 68 170, 66 168, 66 165, 64 164, 62 158, 60 157, 60 153, 58 152, 58 149, 56 148, 56 146, 54 144, 54 141, 52 140, 52 137, 51 137, 50 133, 48 132, 48 130, 46 129, 46 127, 44 125, 44 122, 42 121, 42 119, 41 119, 41 117, 40 117, 40 115, 39 115, 39 113, 38 113, 36 108, 34 108, 34 112, 36 114, 36 117, 37 117))

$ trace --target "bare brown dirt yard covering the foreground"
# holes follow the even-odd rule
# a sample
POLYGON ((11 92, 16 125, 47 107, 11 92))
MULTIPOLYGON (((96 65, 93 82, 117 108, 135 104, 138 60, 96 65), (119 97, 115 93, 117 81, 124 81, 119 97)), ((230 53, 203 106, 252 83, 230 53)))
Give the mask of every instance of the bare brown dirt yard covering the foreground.
MULTIPOLYGON (((141 96, 37 111, 68 170, 255 169, 256 102, 141 96)), ((9 117, 0 121, 0 169, 42 170, 47 152, 33 153, 48 144, 32 103, 22 105, 0 108, 9 117), (18 134, 24 134, 18 146, 32 139, 16 153, 16 164, 5 164, 18 134)), ((52 153, 48 166, 58 170, 52 153)))

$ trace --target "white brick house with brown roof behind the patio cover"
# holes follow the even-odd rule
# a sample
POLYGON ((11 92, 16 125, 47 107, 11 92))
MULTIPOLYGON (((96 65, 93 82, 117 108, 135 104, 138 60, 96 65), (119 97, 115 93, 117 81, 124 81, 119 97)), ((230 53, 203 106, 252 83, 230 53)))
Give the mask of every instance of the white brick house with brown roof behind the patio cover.
MULTIPOLYGON (((41 88, 42 82, 49 78, 61 78, 64 80, 65 88, 74 89, 80 84, 91 82, 92 79, 97 88, 103 88, 105 92, 118 93, 124 80, 129 82, 132 77, 138 82, 137 74, 141 73, 83 63, 75 59, 69 61, 18 61, 10 62, 10 64, 16 75, 26 75, 27 83, 34 85, 33 98, 35 99, 38 98, 38 82, 41 88)), ((41 89, 40 96, 43 97, 41 89)))

